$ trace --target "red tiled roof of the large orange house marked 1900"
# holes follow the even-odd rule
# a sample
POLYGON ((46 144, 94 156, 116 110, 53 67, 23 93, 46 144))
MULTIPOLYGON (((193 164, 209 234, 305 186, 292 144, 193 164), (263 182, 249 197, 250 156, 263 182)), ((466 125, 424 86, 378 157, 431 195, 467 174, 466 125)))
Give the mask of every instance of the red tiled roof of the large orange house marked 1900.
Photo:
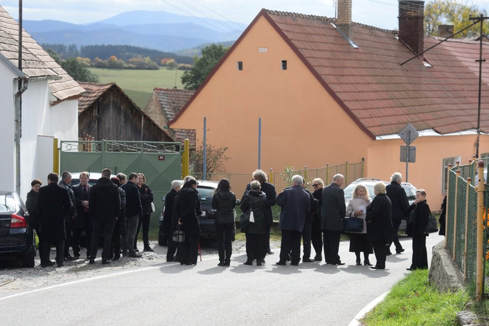
MULTIPOLYGON (((228 53, 260 16, 269 21, 325 90, 372 138, 396 134, 407 122, 418 130, 433 129, 441 134, 476 128, 477 42, 446 41, 438 45, 424 53, 431 67, 421 59, 400 65, 413 53, 398 40, 395 31, 353 23, 352 38, 358 45, 355 48, 335 29, 334 19, 262 9, 228 53)), ((424 48, 437 41, 425 37, 424 48)), ((487 45, 483 46, 484 57, 489 57, 487 45)), ((489 132, 488 83, 485 69, 482 132, 489 132)))

